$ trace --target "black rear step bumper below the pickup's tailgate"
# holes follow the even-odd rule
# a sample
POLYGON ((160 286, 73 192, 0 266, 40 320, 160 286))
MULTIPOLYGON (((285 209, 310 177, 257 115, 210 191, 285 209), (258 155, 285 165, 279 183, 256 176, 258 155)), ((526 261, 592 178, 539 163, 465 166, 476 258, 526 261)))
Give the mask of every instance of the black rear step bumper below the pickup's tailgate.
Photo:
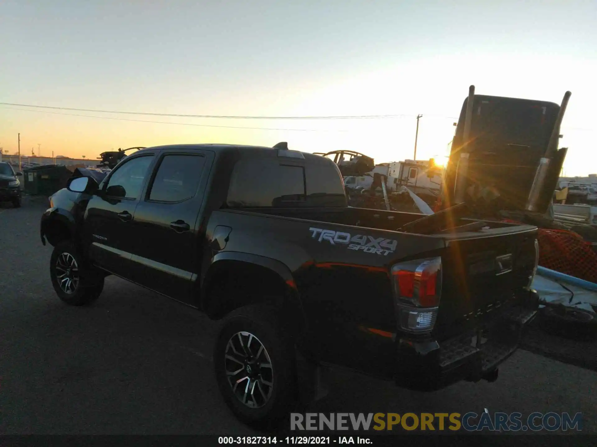
POLYGON ((513 306, 482 331, 450 340, 415 342, 401 339, 395 381, 408 389, 433 391, 457 381, 491 380, 498 366, 518 349, 525 326, 537 315, 538 296, 513 306))

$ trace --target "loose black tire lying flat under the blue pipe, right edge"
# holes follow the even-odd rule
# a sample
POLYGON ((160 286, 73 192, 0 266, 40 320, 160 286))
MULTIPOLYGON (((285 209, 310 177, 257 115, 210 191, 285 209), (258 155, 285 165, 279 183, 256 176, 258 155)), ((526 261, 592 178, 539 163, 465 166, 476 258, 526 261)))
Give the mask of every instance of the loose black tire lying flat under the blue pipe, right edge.
POLYGON ((546 306, 539 314, 540 328, 550 334, 575 340, 597 338, 595 313, 565 306, 546 306))

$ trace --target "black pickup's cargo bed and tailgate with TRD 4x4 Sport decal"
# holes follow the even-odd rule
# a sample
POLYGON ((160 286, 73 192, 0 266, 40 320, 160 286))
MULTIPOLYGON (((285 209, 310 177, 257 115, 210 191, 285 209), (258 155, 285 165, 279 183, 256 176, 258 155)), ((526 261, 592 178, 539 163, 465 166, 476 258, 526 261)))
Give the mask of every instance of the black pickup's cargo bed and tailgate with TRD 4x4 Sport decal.
MULTIPOLYGON (((534 267, 537 228, 531 225, 487 222, 478 231, 421 235, 396 231, 423 216, 417 213, 356 208, 216 213, 217 222, 233 228, 226 250, 248 250, 235 241, 250 240, 253 252, 257 247, 263 250, 263 256, 270 256, 267 247, 275 243, 279 250, 276 257, 284 260, 296 275, 298 291, 304 295, 307 306, 313 306, 315 315, 319 306, 334 309, 325 313, 337 316, 336 327, 343 330, 347 329, 346 324, 367 324, 396 332, 389 272, 393 264, 402 260, 442 257, 442 299, 434 330, 438 340, 449 339, 475 327, 479 321, 497 317, 497 309, 506 309, 514 291, 528 284, 534 267), (234 224, 237 219, 233 218, 237 214, 243 215, 242 228, 238 229, 234 224), (331 236, 322 238, 322 231, 331 236), (355 237, 377 240, 382 249, 379 241, 395 241, 396 249, 389 253, 350 249, 351 244, 343 241, 355 237), (496 271, 496 259, 506 259, 499 266, 500 271, 496 271), (318 274, 318 269, 327 272, 318 274), (335 274, 330 274, 330 269, 335 274), (312 301, 309 284, 318 284, 319 290, 327 293, 312 301), (355 300, 340 299, 343 296, 353 296, 355 300)), ((470 222, 461 220, 462 224, 470 222)))

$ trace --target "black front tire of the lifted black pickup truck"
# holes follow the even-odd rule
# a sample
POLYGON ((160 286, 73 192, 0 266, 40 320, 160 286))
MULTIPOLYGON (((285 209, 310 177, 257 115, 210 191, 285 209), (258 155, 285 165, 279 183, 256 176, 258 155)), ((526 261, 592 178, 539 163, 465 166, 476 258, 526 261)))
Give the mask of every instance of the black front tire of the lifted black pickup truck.
POLYGON ((104 288, 104 275, 87 265, 72 241, 64 241, 54 247, 50 257, 50 278, 59 298, 71 306, 84 306, 95 301, 104 288), (67 290, 63 287, 68 283, 64 284, 64 278, 59 278, 59 275, 64 275, 64 265, 71 268, 67 272, 67 277, 72 277, 67 290))

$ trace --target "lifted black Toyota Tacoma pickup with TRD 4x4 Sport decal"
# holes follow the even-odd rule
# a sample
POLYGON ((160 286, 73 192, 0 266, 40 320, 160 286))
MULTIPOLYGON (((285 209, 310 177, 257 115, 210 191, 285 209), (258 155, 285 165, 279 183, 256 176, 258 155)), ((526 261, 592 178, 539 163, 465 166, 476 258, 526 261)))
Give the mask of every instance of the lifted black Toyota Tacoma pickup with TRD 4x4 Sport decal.
POLYGON ((422 216, 347 206, 336 164, 285 144, 145 148, 50 206, 60 299, 113 274, 224 319, 217 381, 246 423, 287 417, 334 365, 417 390, 496 380, 537 312, 536 227, 401 231, 422 216))

